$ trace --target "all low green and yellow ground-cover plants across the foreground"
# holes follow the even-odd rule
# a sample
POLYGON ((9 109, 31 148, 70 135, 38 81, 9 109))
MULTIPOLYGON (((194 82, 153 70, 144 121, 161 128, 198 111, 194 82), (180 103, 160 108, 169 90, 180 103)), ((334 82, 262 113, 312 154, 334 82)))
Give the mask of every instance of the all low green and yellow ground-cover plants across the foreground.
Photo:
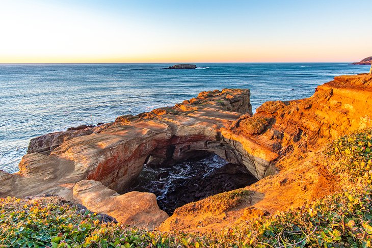
MULTIPOLYGON (((0 200, 0 247, 371 247, 372 130, 340 137, 324 152, 339 192, 219 233, 144 231, 100 223, 97 214, 68 203, 0 200)), ((224 205, 248 190, 217 195, 224 205)), ((234 200, 235 199, 235 200, 234 200)))

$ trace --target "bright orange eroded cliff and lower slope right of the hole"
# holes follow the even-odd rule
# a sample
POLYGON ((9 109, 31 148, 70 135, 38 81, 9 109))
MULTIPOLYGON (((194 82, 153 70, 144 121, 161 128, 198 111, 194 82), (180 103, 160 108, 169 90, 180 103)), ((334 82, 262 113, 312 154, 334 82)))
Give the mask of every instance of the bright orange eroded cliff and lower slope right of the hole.
MULTIPOLYGON (((251 216, 299 207, 306 200, 330 194, 337 175, 321 159, 324 146, 340 135, 372 125, 372 76, 338 76, 318 86, 314 95, 294 101, 269 101, 256 114, 242 115, 221 128, 227 142, 237 142, 250 155, 272 161, 280 173, 247 186, 254 192, 233 209, 213 217, 208 211, 178 208, 161 230, 210 231, 244 221, 251 216)), ((249 158, 249 155, 246 157, 249 158)), ((259 173, 259 160, 252 162, 259 173), (258 163, 258 164, 257 164, 258 163)), ((263 172, 262 172, 263 173, 263 172)), ((200 204, 203 204, 201 200, 200 204)))

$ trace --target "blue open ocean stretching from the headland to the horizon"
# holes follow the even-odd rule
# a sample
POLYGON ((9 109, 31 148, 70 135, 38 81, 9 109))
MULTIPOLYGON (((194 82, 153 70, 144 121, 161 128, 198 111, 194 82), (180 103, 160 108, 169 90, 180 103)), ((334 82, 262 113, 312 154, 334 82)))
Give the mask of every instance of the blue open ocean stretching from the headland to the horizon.
POLYGON ((0 169, 18 171, 30 139, 82 124, 171 106, 201 91, 251 90, 253 110, 268 100, 309 97, 336 75, 368 72, 347 63, 0 64, 0 169), (294 89, 294 90, 292 90, 294 89))

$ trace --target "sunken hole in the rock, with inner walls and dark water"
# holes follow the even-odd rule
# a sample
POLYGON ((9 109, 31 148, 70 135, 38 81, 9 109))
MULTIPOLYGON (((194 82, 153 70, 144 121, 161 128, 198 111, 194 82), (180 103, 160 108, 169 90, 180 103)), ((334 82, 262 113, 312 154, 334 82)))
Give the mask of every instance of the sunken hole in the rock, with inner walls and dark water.
POLYGON ((184 204, 250 185, 272 173, 270 163, 221 132, 155 138, 111 149, 88 179, 119 194, 151 192, 171 215, 184 204))

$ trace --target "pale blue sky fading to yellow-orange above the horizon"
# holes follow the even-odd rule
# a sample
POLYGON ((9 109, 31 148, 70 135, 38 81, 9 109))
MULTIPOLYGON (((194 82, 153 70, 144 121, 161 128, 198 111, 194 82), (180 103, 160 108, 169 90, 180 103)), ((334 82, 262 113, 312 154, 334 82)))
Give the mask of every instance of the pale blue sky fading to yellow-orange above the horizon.
POLYGON ((371 0, 0 0, 0 63, 355 62, 371 0))

